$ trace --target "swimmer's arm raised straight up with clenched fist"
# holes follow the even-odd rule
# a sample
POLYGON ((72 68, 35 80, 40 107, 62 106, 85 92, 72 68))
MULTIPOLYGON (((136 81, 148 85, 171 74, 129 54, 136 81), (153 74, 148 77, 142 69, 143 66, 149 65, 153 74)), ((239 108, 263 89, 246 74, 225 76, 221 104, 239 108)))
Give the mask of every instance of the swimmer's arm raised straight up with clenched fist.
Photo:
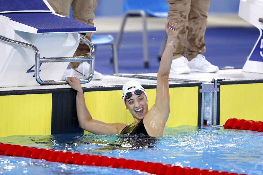
POLYGON ((170 113, 168 79, 173 59, 174 43, 179 32, 179 26, 175 22, 168 21, 165 24, 165 31, 168 37, 157 75, 155 104, 144 117, 145 129, 151 136, 163 135, 165 124, 170 113))

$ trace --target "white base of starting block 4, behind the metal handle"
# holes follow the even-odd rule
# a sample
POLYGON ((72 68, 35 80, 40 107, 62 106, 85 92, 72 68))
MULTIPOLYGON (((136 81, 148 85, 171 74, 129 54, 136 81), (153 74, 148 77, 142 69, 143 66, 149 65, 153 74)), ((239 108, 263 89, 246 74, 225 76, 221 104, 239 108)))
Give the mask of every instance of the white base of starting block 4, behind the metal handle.
MULTIPOLYGON (((39 49, 40 57, 73 56, 80 41, 78 33, 37 34, 13 30, 0 23, 0 35, 20 42, 30 43, 39 49)), ((34 76, 35 54, 32 50, 0 42, 0 87, 39 85, 34 76)), ((61 79, 69 62, 42 63, 42 80, 61 79)))

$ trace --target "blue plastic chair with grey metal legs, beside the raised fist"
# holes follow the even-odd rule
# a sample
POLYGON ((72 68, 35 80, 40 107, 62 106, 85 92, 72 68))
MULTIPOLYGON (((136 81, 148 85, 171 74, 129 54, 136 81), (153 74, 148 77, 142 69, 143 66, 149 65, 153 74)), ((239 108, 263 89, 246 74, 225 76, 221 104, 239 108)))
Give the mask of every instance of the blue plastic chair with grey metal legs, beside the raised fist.
MULTIPOLYGON (((140 16, 142 17, 143 24, 143 58, 145 67, 149 67, 148 61, 148 34, 147 34, 147 24, 146 17, 158 17, 158 18, 167 18, 169 4, 166 0, 124 0, 124 17, 121 24, 121 30, 118 33, 116 39, 116 47, 119 48, 121 37, 124 30, 124 25, 128 17, 140 16)), ((162 48, 161 48, 162 49, 162 48)), ((163 51, 163 49, 162 49, 163 51)), ((159 51, 160 53, 160 51, 159 51)))

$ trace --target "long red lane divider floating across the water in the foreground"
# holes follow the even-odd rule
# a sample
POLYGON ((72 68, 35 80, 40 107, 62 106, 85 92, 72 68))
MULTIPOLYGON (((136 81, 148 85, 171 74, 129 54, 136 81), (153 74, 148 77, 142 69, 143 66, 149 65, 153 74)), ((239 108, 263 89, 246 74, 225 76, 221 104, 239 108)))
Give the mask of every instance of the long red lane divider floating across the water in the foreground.
POLYGON ((69 151, 57 151, 54 149, 44 149, 20 145, 4 144, 0 142, 0 155, 19 156, 32 159, 45 159, 51 162, 60 162, 76 165, 106 166, 111 168, 127 168, 145 171, 157 175, 245 175, 229 173, 226 171, 206 170, 199 168, 189 168, 161 164, 153 162, 143 162, 123 158, 107 156, 97 156, 89 154, 72 153, 69 151))

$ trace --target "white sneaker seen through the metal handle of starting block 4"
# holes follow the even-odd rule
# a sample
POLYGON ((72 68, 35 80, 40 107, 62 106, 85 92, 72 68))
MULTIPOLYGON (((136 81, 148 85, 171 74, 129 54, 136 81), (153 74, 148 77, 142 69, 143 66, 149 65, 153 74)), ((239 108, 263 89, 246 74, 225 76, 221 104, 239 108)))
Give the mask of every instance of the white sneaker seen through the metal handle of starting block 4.
MULTIPOLYGON (((86 79, 89 75, 89 63, 88 62, 82 62, 76 69, 70 69, 69 76, 75 76, 79 79, 86 79)), ((98 73, 94 70, 94 75, 92 80, 100 80, 103 78, 103 75, 101 73, 98 73)))

